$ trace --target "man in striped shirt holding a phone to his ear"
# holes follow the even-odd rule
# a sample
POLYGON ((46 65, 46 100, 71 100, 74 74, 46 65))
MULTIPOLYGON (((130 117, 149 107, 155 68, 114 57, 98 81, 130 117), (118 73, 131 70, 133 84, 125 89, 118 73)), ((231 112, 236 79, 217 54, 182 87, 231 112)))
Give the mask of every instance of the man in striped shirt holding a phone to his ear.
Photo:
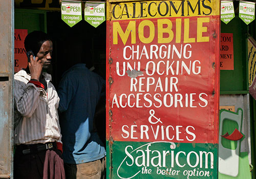
POLYGON ((28 68, 14 75, 14 178, 65 178, 59 98, 46 73, 52 41, 46 33, 34 31, 24 44, 28 68))

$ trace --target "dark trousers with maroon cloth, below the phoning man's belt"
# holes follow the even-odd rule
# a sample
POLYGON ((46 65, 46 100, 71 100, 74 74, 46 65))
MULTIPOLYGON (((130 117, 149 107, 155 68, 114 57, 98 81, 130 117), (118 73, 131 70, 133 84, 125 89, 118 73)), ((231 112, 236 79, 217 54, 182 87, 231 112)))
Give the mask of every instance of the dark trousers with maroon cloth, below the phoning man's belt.
POLYGON ((65 179, 61 153, 56 147, 48 150, 22 153, 17 147, 14 154, 14 179, 65 179))

